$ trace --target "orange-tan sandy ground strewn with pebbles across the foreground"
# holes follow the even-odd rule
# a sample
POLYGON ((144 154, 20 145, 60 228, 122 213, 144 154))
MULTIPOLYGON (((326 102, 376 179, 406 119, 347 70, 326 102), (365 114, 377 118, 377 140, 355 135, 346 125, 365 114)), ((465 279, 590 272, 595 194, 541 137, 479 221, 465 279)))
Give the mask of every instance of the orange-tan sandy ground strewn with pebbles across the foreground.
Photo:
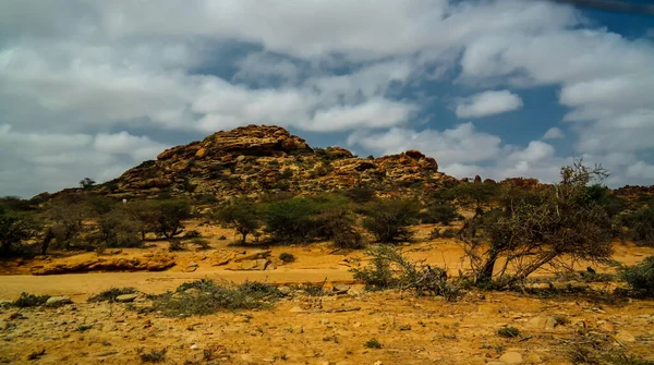
MULTIPOLYGON (((409 256, 445 266, 451 273, 465 269, 458 243, 424 241, 429 229, 419 228, 419 242, 405 247, 415 250, 409 256)), ((15 300, 21 292, 29 292, 70 295, 74 304, 61 308, 0 309, 0 363, 137 364, 141 362, 138 349, 165 349, 166 364, 499 365, 510 363, 506 355, 514 357, 516 353, 524 364, 568 364, 569 344, 566 343, 580 331, 602 336, 616 348, 639 356, 654 355, 654 301, 607 303, 582 294, 541 299, 516 293, 470 292, 461 301, 449 303, 438 297, 414 297, 392 291, 356 290, 324 297, 296 294, 278 302, 271 309, 185 319, 166 318, 160 314, 140 315, 125 304, 86 303, 90 294, 112 287, 160 293, 199 278, 280 284, 325 279, 329 285, 352 283, 349 269, 356 265, 356 258, 363 258, 361 252, 335 252, 326 243, 235 247, 269 248, 274 257, 288 252, 296 261, 266 271, 226 270, 209 265, 206 257, 213 251, 227 250, 227 241, 217 238, 227 233, 231 240, 233 232, 204 227, 198 230, 203 230, 213 248, 174 253, 178 265, 166 271, 26 275, 31 266, 47 259, 74 260, 95 253, 39 258, 20 265, 1 263, 0 300, 15 300), (183 272, 190 261, 199 264, 197 270, 183 272), (335 313, 336 309, 344 312, 335 313), (16 317, 16 313, 23 318, 16 317), (570 323, 545 328, 544 323, 554 315, 565 315, 570 323), (521 337, 497 336, 497 329, 504 326, 517 327, 521 337), (382 349, 365 348, 364 342, 371 339, 378 340, 382 349), (27 360, 28 354, 40 350, 45 350, 43 356, 27 360), (206 360, 205 355, 213 360, 206 360)), ((119 255, 133 257, 143 252, 164 251, 162 243, 155 243, 149 248, 123 250, 119 255)), ((616 244, 614 258, 633 265, 653 254, 652 248, 616 244)), ((585 268, 583 263, 580 268, 585 268)), ((608 267, 596 269, 610 270, 608 267)))

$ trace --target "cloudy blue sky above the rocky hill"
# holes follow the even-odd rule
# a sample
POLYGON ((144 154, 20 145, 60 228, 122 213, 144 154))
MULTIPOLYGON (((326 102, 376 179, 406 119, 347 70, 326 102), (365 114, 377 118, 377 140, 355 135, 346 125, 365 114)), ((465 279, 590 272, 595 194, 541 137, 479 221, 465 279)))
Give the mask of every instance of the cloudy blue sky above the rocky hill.
POLYGON ((654 15, 542 0, 0 1, 0 196, 247 124, 457 177, 654 184, 654 15))

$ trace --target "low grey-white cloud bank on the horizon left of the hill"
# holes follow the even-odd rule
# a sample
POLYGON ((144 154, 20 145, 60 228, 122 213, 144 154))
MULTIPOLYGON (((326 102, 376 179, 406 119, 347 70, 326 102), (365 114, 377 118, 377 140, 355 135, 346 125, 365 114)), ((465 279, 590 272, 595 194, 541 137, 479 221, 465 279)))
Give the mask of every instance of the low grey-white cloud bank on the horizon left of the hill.
POLYGON ((29 196, 76 186, 85 177, 98 182, 153 159, 167 146, 126 132, 62 134, 15 131, 0 125, 2 195, 29 196))

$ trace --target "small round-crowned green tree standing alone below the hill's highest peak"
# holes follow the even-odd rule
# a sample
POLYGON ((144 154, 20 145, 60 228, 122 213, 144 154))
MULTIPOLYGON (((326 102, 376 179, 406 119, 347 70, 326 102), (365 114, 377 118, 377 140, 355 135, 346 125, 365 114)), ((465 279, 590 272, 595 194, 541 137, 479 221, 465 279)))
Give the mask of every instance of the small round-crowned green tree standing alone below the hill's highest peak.
POLYGON ((262 226, 257 206, 252 199, 244 197, 232 199, 226 207, 220 208, 216 219, 235 229, 241 234, 243 244, 247 234, 255 232, 262 226))

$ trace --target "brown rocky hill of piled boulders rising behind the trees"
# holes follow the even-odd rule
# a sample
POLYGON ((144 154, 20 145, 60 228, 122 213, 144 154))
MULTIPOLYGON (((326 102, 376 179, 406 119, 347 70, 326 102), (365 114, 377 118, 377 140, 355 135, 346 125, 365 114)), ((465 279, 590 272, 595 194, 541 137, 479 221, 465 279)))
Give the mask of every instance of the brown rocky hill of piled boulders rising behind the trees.
POLYGON ((279 126, 249 125, 177 146, 120 178, 95 186, 114 197, 262 192, 311 193, 367 186, 384 194, 429 190, 457 180, 438 172, 434 158, 408 150, 360 158, 340 147, 312 148, 279 126))

